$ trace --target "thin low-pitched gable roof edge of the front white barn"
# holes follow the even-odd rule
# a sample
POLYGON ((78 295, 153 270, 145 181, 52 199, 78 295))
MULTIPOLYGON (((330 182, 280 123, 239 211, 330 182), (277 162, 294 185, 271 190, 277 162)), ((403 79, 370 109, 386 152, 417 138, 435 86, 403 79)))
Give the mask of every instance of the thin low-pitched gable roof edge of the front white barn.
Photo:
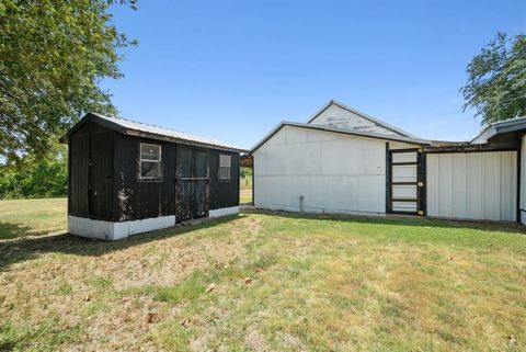
POLYGON ((371 133, 371 132, 357 132, 351 129, 342 129, 342 128, 333 128, 323 125, 310 125, 310 124, 301 124, 296 122, 288 122, 282 121, 276 127, 274 127, 263 139, 261 139, 255 146, 250 149, 250 152, 253 154, 258 150, 261 146, 263 146, 268 139, 271 139, 276 133, 279 132, 285 126, 293 126, 299 128, 307 128, 307 129, 317 129, 317 130, 325 130, 331 133, 339 133, 344 135, 352 135, 352 136, 359 136, 359 137, 368 137, 368 138, 377 138, 384 140, 395 140, 395 141, 404 141, 414 145, 431 145, 431 140, 420 139, 420 138, 411 138, 411 137, 401 137, 395 135, 386 135, 379 133, 371 133))

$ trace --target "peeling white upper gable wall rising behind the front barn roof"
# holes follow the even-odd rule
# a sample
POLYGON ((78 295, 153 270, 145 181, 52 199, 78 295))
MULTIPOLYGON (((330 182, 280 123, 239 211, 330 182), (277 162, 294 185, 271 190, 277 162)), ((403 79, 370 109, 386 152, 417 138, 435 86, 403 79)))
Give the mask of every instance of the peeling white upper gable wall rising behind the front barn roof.
POLYGON ((399 134, 382 126, 379 126, 375 122, 354 114, 353 112, 343 109, 336 104, 331 104, 315 120, 312 120, 310 124, 331 126, 334 128, 351 129, 356 132, 371 132, 390 136, 399 136, 399 134))

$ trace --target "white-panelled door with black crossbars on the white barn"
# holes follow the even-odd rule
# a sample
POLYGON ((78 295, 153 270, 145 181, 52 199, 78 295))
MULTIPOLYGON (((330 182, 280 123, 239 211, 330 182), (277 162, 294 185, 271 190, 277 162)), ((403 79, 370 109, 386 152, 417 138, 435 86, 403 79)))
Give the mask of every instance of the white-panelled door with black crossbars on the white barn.
POLYGON ((425 215, 424 156, 419 149, 389 150, 387 212, 425 215))

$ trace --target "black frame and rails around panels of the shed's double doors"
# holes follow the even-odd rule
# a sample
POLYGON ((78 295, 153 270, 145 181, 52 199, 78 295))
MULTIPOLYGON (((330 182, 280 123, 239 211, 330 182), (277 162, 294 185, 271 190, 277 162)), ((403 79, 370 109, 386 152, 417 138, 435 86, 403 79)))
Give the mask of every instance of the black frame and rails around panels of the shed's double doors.
POLYGON ((198 147, 191 147, 191 146, 184 146, 184 145, 178 145, 175 149, 175 222, 181 223, 183 220, 187 219, 193 219, 193 218, 202 218, 202 217, 207 217, 209 214, 210 209, 210 154, 208 149, 205 148, 198 148, 198 147), (181 154, 183 150, 190 151, 191 152, 191 158, 190 158, 190 170, 191 174, 182 177, 182 166, 180 166, 181 160, 181 154), (205 154, 205 175, 196 175, 197 169, 196 169, 196 152, 203 152, 205 154), (184 183, 187 183, 188 185, 188 192, 183 192, 182 186, 184 183), (196 202, 197 202, 197 183, 204 183, 204 213, 199 216, 196 216, 196 202), (190 216, 184 216, 183 217, 183 202, 182 197, 183 196, 190 196, 190 202, 188 202, 188 213, 190 216))

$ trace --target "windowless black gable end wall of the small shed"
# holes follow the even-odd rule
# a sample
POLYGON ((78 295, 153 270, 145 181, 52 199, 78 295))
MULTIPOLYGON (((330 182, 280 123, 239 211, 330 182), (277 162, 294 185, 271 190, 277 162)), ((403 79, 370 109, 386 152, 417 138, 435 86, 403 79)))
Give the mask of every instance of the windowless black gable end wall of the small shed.
POLYGON ((87 123, 70 137, 69 214, 113 218, 113 130, 87 123))

